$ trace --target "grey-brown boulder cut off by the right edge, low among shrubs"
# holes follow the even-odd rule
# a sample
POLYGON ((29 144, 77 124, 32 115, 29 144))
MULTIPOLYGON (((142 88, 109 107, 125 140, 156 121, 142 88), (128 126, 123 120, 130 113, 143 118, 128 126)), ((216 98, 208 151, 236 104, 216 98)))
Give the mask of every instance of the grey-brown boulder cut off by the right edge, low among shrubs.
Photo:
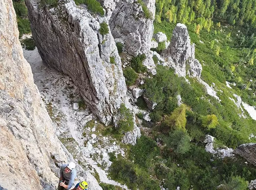
POLYGON ((245 158, 249 163, 256 166, 256 143, 242 144, 234 150, 234 154, 245 158))

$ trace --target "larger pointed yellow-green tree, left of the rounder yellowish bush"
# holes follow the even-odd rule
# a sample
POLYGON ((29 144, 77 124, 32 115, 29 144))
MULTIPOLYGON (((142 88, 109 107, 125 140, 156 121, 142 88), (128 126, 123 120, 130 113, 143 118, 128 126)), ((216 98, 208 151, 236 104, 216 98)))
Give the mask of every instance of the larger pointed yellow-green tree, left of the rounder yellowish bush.
POLYGON ((166 117, 165 125, 174 130, 186 131, 186 109, 186 105, 181 104, 181 106, 176 108, 170 116, 166 117))

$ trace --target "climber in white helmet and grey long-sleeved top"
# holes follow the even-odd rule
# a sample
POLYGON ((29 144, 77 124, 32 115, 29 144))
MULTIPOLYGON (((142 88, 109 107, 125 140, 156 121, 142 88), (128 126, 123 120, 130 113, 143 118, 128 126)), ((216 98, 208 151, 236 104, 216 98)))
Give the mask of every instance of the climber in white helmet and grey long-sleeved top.
POLYGON ((76 165, 74 162, 69 162, 68 164, 63 164, 60 170, 60 183, 58 185, 58 190, 70 189, 74 183, 76 177, 76 165))

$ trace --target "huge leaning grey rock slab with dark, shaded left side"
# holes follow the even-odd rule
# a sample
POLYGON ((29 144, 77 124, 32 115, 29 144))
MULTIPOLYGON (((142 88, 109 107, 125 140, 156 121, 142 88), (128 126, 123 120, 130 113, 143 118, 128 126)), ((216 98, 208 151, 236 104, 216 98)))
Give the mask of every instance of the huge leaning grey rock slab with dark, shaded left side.
POLYGON ((38 52, 50 67, 69 75, 100 121, 108 125, 126 98, 125 79, 114 39, 99 33, 106 17, 93 17, 72 0, 56 8, 25 1, 38 52), (110 63, 110 57, 115 64, 110 63))

